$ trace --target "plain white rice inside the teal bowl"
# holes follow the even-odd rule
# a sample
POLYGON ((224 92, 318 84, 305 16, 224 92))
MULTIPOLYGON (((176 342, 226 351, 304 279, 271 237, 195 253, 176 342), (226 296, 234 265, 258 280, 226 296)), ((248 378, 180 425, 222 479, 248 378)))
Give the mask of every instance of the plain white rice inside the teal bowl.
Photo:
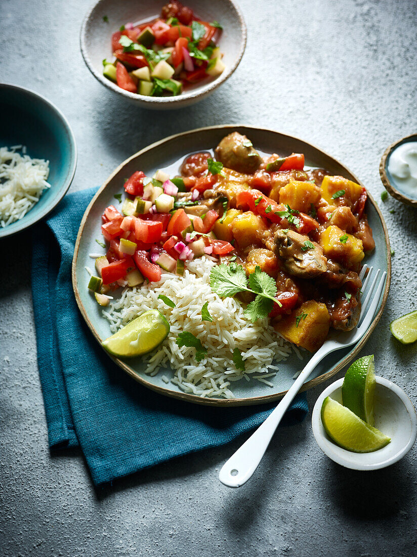
POLYGON ((26 147, 0 147, 0 225, 18 221, 39 201, 44 189, 51 184, 49 161, 31 159, 26 147), (21 150, 22 154, 17 153, 21 150))

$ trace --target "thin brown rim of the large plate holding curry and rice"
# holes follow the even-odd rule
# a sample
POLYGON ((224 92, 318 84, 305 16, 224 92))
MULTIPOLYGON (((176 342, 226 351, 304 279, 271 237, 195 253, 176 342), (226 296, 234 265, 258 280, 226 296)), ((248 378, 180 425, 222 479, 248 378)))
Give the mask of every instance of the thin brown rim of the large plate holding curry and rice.
MULTIPOLYGON (((184 135, 199 133, 201 131, 219 130, 219 129, 228 130, 228 129, 236 129, 236 128, 244 128, 244 129, 249 130, 249 132, 250 132, 250 130, 262 130, 262 131, 272 132, 274 134, 279 134, 279 135, 283 136, 283 138, 289 138, 289 139, 295 139, 297 141, 301 141, 302 143, 305 143, 305 144, 309 145, 313 149, 316 149, 320 153, 322 153, 322 154, 326 155, 327 157, 329 157, 330 159, 334 160, 343 169, 345 169, 346 172, 349 173, 357 181, 358 184, 360 184, 362 187, 364 187, 364 184, 362 184, 362 182, 356 177, 356 175, 354 173, 351 172, 351 170, 349 170, 349 168, 347 168, 344 164, 340 163, 337 159, 335 159, 334 157, 332 157, 331 155, 329 155, 328 153, 326 153, 322 149, 316 147, 315 145, 313 145, 309 141, 305 141, 303 139, 300 139, 295 135, 283 134, 280 131, 276 131, 276 130, 273 130, 271 128, 263 128, 262 126, 252 126, 252 125, 248 125, 248 124, 221 124, 221 125, 214 125, 214 126, 205 126, 203 128, 195 128, 193 130, 183 131, 179 134, 173 134, 173 135, 170 135, 170 136, 168 136, 164 139, 160 139, 159 141, 155 141, 154 143, 152 143, 152 144, 146 146, 145 148, 139 150, 137 153, 134 153, 133 155, 131 155, 131 157, 125 159, 121 164, 119 164, 119 166, 117 166, 117 168, 114 170, 114 172, 112 172, 110 174, 109 178, 107 178, 107 180, 105 180, 105 182, 97 190, 94 197, 91 199, 90 203, 88 204, 88 206, 87 206, 87 208, 84 212, 84 215, 82 216, 82 219, 81 219, 80 228, 79 228, 79 232, 77 234, 77 239, 76 239, 76 242, 75 242, 75 248, 74 248, 74 253, 73 253, 73 258, 72 258, 71 276, 72 276, 72 287, 73 287, 73 292, 74 292, 74 295, 75 295, 75 299, 76 299, 77 305, 78 305, 78 307, 81 311, 82 317, 84 318, 87 326, 91 330, 94 338, 96 339, 97 343, 99 343, 100 348, 102 350, 104 350, 104 348, 102 348, 102 346, 101 346, 100 335, 97 333, 94 325, 91 323, 90 318, 87 315, 87 312, 85 310, 84 304, 82 304, 81 296, 79 294, 78 287, 77 287, 77 277, 76 277, 76 263, 77 263, 79 248, 80 248, 82 232, 84 230, 87 218, 89 217, 90 210, 91 210, 92 206, 94 205, 96 199, 104 191, 104 189, 111 182, 111 180, 115 177, 115 175, 123 167, 125 167, 125 165, 127 163, 129 163, 132 159, 134 159, 136 157, 139 157, 139 155, 142 155, 142 154, 150 151, 151 149, 154 149, 156 146, 159 146, 159 145, 161 145, 165 142, 168 142, 172 139, 179 139, 184 135)), ((384 217, 382 216, 382 213, 381 213, 379 207, 377 206, 377 204, 375 203, 374 198, 371 196, 371 194, 369 192, 368 192, 368 197, 369 197, 370 202, 374 206, 374 208, 375 208, 375 210, 376 210, 376 212, 377 212, 377 214, 380 218, 380 221, 381 221, 381 224, 382 224, 382 229, 384 230, 385 245, 386 245, 387 276, 386 276, 384 295, 382 296, 381 307, 380 307, 378 313, 376 314, 374 321, 372 321, 372 323, 370 325, 370 328, 366 331, 365 335, 360 340, 359 344, 357 344, 357 346, 352 351, 352 353, 350 355, 347 355, 346 358, 340 364, 337 364, 333 369, 329 370, 326 373, 323 373, 322 375, 319 375, 318 377, 316 377, 314 379, 310 379, 310 381, 306 382, 302 386, 302 388, 300 389, 300 393, 305 392, 306 390, 309 390, 313 387, 316 387, 320 383, 325 382, 326 380, 333 377, 333 375, 335 375, 337 372, 339 372, 347 364, 349 364, 355 358, 356 354, 359 353, 359 351, 366 344, 366 342, 369 339, 371 333, 374 331, 376 325, 378 324, 379 320, 381 319, 382 312, 384 311, 386 300, 387 300, 389 289, 390 289, 390 284, 391 284, 390 241, 389 241, 388 231, 387 231, 387 227, 386 227, 386 224, 385 224, 384 217)), ((171 397, 171 398, 184 400, 186 402, 191 402, 191 403, 194 403, 194 404, 203 404, 203 405, 208 405, 208 406, 229 407, 229 408, 236 407, 236 406, 251 406, 251 405, 254 405, 254 404, 268 404, 268 403, 271 403, 271 402, 274 402, 274 401, 278 400, 279 398, 283 397, 284 394, 287 393, 287 390, 284 390, 280 393, 262 395, 261 397, 220 399, 220 398, 202 398, 202 397, 199 397, 198 395, 191 394, 191 393, 175 392, 173 390, 169 390, 168 388, 160 387, 159 385, 155 385, 153 383, 150 383, 149 381, 147 381, 146 379, 144 379, 143 377, 140 377, 137 373, 135 373, 129 367, 129 365, 126 365, 126 363, 124 361, 120 360, 119 358, 116 358, 115 356, 110 355, 107 351, 105 351, 105 352, 116 363, 116 365, 118 365, 122 370, 124 370, 128 375, 130 375, 130 377, 135 379, 138 383, 141 383, 145 387, 147 387, 147 388, 149 388, 149 389, 151 389, 151 390, 153 390, 153 391, 155 391, 159 394, 163 394, 163 395, 171 397)))

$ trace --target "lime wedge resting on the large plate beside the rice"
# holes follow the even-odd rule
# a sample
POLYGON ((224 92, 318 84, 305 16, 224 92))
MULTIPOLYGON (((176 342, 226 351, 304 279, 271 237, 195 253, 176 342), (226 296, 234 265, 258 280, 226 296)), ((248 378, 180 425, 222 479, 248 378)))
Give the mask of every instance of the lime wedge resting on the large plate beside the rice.
POLYGON ((165 317, 158 310, 149 310, 102 341, 101 345, 114 356, 133 358, 154 350, 168 333, 169 323, 165 317))

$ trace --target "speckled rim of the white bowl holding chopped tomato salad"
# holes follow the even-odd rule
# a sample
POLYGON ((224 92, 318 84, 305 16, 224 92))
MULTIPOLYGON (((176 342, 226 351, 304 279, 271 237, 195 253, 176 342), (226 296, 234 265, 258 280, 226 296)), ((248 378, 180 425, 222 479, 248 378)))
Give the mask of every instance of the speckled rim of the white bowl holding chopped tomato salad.
POLYGON ((87 53, 87 46, 85 40, 87 24, 89 22, 92 12, 94 12, 94 10, 97 8, 97 6, 99 6, 99 4, 102 1, 104 0, 99 0, 99 2, 96 2, 94 6, 92 6, 90 11, 86 14, 84 21, 82 22, 81 32, 80 32, 80 46, 81 46, 82 57, 84 58, 84 61, 88 69, 91 71, 92 75, 94 75, 94 77, 98 81, 100 81, 102 85, 105 85, 107 89, 111 89, 111 91, 114 91, 117 94, 124 96, 128 99, 131 99, 133 101, 138 101, 138 103, 140 102, 143 103, 144 105, 148 104, 149 107, 152 106, 152 108, 157 108, 158 106, 161 107, 163 106, 164 108, 173 108, 173 109, 180 108, 181 104, 184 104, 185 106, 185 102, 187 100, 189 101, 190 100, 197 101, 197 99, 202 100, 205 96, 212 93, 214 89, 217 89, 217 87, 222 85, 222 83, 224 83, 224 81, 227 80, 233 74, 233 72, 238 67, 240 61, 242 60, 242 56, 246 48, 246 39, 247 39, 246 23, 244 22, 242 11, 238 5, 234 3, 232 0, 223 0, 224 2, 229 3, 230 6, 232 6, 236 10, 238 21, 240 24, 240 30, 241 30, 241 35, 240 35, 241 48, 239 50, 238 56, 236 57, 236 60, 234 61, 233 65, 228 67, 225 71, 223 71, 221 77, 214 79, 213 81, 210 81, 208 84, 203 85, 198 89, 193 89, 189 93, 181 93, 180 95, 175 97, 149 97, 146 95, 139 95, 137 93, 124 91, 123 89, 120 89, 120 87, 117 87, 117 85, 112 83, 110 80, 105 79, 105 77, 103 77, 102 74, 100 74, 95 70, 94 66, 91 63, 90 57, 87 53))

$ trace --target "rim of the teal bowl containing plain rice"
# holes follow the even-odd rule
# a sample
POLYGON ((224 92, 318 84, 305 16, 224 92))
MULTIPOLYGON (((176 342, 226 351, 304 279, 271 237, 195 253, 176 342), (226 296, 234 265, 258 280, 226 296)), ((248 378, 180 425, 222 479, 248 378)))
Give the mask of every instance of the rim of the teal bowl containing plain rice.
POLYGON ((19 85, 13 85, 11 83, 0 83, 0 89, 6 89, 6 88, 16 89, 19 91, 30 93, 31 95, 38 97, 38 99, 41 99, 43 102, 45 102, 46 105, 50 106, 52 111, 54 111, 58 115, 59 119, 61 120, 62 127, 63 129, 65 129, 67 133, 68 140, 71 146, 71 157, 70 157, 71 160, 70 160, 70 164, 68 165, 65 181, 61 186, 61 193, 57 198, 53 199, 53 203, 47 203, 45 207, 42 209, 42 211, 36 214, 36 217, 33 216, 34 213, 31 216, 31 211, 28 211, 25 214, 25 216, 21 218, 19 221, 15 221, 14 223, 12 223, 14 225, 13 229, 8 229, 7 226, 5 226, 4 228, 0 228, 0 238, 6 238, 7 236, 12 236, 12 234, 17 234, 18 232, 21 232, 22 230, 41 221, 42 218, 45 218, 51 211, 53 211, 53 209, 55 209, 55 207, 61 201, 63 196, 65 196, 65 194, 67 193, 68 188, 70 187, 72 180, 74 178, 75 170, 77 168, 77 144, 75 141, 75 136, 72 133, 72 129, 70 124, 68 123, 68 120, 62 114, 61 110, 58 109, 53 104, 53 102, 46 99, 46 97, 37 93, 36 91, 32 91, 32 89, 28 89, 27 87, 21 87, 19 85))

